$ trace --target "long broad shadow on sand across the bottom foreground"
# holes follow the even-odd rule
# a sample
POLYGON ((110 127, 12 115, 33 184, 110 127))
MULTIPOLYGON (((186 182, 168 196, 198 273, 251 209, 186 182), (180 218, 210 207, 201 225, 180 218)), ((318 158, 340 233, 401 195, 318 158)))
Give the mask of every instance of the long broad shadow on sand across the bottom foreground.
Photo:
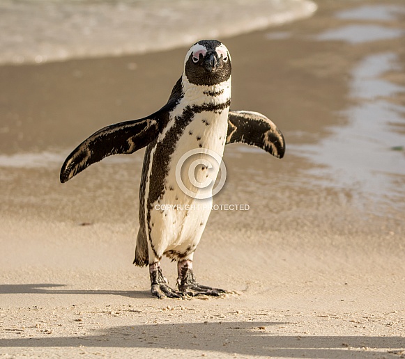
POLYGON ((97 335, 0 339, 1 347, 115 347, 216 351, 254 356, 289 358, 376 358, 389 348, 401 356, 404 337, 282 336, 259 327, 270 322, 216 322, 148 324, 107 328, 97 335), (377 352, 367 348, 377 349, 377 352))

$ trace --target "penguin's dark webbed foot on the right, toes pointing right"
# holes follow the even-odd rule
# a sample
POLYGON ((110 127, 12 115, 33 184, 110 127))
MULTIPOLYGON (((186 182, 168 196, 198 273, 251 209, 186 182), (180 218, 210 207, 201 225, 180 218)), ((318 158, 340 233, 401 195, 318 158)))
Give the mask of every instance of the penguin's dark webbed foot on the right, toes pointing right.
POLYGON ((183 260, 177 265, 177 287, 181 293, 187 296, 220 296, 225 293, 224 289, 200 285, 194 277, 191 260, 183 260))

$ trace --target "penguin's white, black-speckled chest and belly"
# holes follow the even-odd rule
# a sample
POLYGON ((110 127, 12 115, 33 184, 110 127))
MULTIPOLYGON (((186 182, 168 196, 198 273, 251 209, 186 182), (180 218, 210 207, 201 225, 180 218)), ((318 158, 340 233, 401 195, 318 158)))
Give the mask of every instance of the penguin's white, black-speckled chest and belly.
MULTIPOLYGON (((156 248, 181 251, 197 246, 201 238, 211 213, 211 193, 220 169, 218 159, 222 159, 224 152, 230 97, 230 80, 222 86, 190 86, 158 138, 158 143, 165 141, 185 110, 197 109, 181 128, 169 156, 165 191, 150 209, 146 208, 151 211, 149 218, 153 223, 146 228, 151 228, 150 239, 156 248), (198 196, 201 191, 204 191, 203 200, 198 196)), ((153 161, 153 151, 151 157, 153 161)))

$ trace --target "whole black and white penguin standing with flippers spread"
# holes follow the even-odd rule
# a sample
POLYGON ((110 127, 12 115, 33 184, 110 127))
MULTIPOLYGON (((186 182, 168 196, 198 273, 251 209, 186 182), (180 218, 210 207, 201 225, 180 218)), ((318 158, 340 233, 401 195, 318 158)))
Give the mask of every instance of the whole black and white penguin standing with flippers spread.
MULTIPOLYGON (((199 148, 220 157, 227 143, 246 143, 282 158, 282 133, 266 116, 231 111, 231 57, 217 40, 201 40, 185 56, 184 72, 159 111, 140 120, 107 126, 87 138, 66 159, 61 182, 112 154, 130 154, 146 146, 139 191, 139 232, 134 263, 149 265, 151 292, 158 298, 188 295, 217 296, 222 289, 199 285, 194 278, 194 250, 211 213, 212 198, 183 193, 176 164, 183 154, 199 148), (192 207, 192 205, 198 205, 192 207), (204 204, 201 205, 201 204, 204 204), (165 205, 165 206, 163 206, 165 205), (176 205, 183 205, 178 209, 176 205), (185 209, 184 205, 190 205, 185 209), (163 208, 163 209, 162 209, 163 208), (160 259, 178 261, 178 290, 162 275, 160 259)), ((204 154, 200 154, 200 159, 204 154)), ((200 166, 196 176, 215 181, 218 169, 200 166)), ((199 191, 188 182, 188 188, 199 191)))

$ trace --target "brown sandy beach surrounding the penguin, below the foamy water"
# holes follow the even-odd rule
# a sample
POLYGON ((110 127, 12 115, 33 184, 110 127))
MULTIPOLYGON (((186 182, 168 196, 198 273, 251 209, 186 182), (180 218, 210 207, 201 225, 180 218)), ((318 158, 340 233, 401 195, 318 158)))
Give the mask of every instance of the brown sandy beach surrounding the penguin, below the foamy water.
POLYGON ((143 151, 59 183, 86 136, 166 102, 187 50, 0 67, 0 354, 404 357, 402 4, 322 1, 311 19, 220 39, 231 108, 265 113, 287 143, 280 161, 226 148, 214 203, 250 209, 214 211, 194 257, 201 283, 236 291, 222 298, 159 301, 132 265, 143 151), (362 6, 396 8, 342 13, 362 6), (381 57, 383 73, 363 74, 381 54, 388 70, 381 57), (367 104, 392 117, 367 126, 367 104))

